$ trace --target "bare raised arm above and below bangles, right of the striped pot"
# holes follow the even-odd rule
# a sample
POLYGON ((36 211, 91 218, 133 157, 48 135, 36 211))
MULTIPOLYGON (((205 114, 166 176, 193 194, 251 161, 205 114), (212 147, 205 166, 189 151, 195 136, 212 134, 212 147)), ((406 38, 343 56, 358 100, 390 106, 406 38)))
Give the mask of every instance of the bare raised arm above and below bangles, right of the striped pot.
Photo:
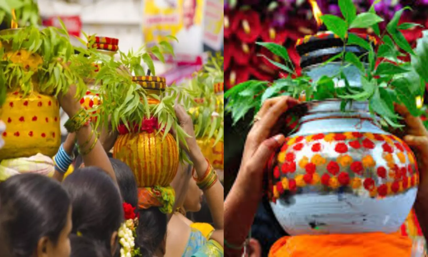
MULTIPOLYGON (((195 167, 195 171, 199 178, 204 176, 205 172, 208 169, 208 162, 205 160, 204 155, 200 151, 199 147, 198 151, 194 151, 190 158, 193 161, 193 165, 195 167)), ((204 195, 207 199, 208 207, 211 212, 211 216, 214 221, 214 227, 216 229, 224 228, 224 188, 221 185, 220 181, 214 183, 210 188, 204 190, 204 195)))

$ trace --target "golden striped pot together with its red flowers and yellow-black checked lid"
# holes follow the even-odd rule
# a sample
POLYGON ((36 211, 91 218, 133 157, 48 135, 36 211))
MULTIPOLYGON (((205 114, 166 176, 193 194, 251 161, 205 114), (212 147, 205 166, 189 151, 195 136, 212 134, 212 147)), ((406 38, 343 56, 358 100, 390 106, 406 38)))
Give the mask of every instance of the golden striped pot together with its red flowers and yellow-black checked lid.
MULTIPOLYGON (((155 76, 133 77, 133 81, 146 89, 148 94, 160 95, 166 88, 165 78, 155 76)), ((147 96, 149 105, 159 103, 147 96)), ((159 131, 155 117, 139 124, 130 124, 131 131, 120 125, 119 137, 113 148, 113 157, 131 167, 139 187, 169 186, 178 170, 178 146, 174 137, 159 131)))

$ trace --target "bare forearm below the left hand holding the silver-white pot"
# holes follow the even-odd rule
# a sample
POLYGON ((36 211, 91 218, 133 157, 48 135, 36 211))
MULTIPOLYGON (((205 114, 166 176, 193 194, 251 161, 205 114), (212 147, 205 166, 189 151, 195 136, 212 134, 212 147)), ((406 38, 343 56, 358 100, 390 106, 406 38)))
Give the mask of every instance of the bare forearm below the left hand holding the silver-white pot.
MULTIPOLYGON (((225 240, 234 246, 242 245, 247 238, 259 202, 262 199, 261 174, 238 177, 224 203, 225 240)), ((228 248, 227 256, 238 256, 241 251, 228 248)))

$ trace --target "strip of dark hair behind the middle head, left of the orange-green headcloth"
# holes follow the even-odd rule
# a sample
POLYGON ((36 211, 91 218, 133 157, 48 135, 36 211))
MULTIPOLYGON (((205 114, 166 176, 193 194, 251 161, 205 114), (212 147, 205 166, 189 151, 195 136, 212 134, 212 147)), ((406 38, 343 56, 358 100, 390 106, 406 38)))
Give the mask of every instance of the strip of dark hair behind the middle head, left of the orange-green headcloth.
POLYGON ((137 181, 131 168, 124 162, 110 158, 116 175, 117 184, 119 185, 120 194, 125 203, 129 203, 132 207, 138 206, 137 181))

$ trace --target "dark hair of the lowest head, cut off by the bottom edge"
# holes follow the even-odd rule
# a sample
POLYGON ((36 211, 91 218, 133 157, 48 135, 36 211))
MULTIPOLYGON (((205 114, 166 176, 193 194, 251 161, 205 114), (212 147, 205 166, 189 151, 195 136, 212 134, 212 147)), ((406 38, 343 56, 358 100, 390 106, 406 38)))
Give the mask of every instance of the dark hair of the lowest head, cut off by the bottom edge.
POLYGON ((71 235, 70 242, 70 257, 111 257, 104 245, 87 237, 71 235))

